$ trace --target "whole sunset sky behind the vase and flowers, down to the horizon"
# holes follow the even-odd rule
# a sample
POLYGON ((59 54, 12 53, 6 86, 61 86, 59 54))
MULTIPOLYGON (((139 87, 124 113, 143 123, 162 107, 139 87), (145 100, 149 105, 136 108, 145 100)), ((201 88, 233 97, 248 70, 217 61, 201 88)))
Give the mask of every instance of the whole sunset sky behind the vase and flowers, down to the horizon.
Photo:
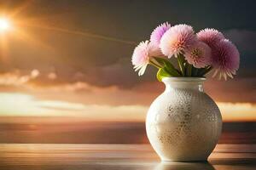
MULTIPOLYGON (((256 121, 255 1, 0 1, 10 28, 0 32, 0 116, 79 117, 143 122, 163 92, 154 68, 138 77, 136 45, 154 27, 213 27, 234 42, 234 79, 207 78, 224 122, 256 121)), ((15 122, 16 119, 1 121, 15 122)))

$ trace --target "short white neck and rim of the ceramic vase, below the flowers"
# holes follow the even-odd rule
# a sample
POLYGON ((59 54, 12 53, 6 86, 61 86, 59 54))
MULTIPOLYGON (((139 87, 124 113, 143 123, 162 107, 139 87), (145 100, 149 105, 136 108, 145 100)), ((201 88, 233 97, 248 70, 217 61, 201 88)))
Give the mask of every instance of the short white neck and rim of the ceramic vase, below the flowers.
POLYGON ((203 82, 205 78, 202 77, 166 77, 163 78, 163 82, 166 85, 166 91, 170 91, 173 88, 177 89, 189 89, 203 92, 203 82))

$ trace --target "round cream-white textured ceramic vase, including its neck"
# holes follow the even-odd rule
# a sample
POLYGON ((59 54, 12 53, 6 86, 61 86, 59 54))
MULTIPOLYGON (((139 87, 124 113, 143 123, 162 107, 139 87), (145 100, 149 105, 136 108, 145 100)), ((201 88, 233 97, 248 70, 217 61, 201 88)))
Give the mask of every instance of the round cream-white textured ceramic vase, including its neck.
POLYGON ((162 161, 207 161, 218 143, 222 117, 204 93, 205 78, 166 77, 166 90, 148 110, 150 144, 162 161))

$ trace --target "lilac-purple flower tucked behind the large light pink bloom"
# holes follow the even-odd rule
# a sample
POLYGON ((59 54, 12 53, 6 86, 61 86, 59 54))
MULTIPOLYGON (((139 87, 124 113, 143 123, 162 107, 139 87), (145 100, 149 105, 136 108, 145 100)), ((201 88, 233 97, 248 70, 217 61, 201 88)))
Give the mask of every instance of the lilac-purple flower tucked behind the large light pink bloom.
POLYGON ((152 42, 154 46, 159 47, 161 37, 163 37, 164 33, 170 28, 171 25, 168 22, 165 22, 160 26, 157 26, 151 33, 150 42, 152 42))

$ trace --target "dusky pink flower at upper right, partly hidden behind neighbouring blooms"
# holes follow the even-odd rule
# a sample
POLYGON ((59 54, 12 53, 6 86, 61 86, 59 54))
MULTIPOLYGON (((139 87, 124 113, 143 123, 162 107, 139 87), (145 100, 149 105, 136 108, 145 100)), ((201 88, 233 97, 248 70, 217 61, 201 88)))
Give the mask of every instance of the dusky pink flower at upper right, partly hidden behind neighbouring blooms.
POLYGON ((212 28, 201 30, 196 36, 200 41, 207 43, 210 48, 216 48, 218 42, 224 39, 224 35, 220 31, 212 28))

